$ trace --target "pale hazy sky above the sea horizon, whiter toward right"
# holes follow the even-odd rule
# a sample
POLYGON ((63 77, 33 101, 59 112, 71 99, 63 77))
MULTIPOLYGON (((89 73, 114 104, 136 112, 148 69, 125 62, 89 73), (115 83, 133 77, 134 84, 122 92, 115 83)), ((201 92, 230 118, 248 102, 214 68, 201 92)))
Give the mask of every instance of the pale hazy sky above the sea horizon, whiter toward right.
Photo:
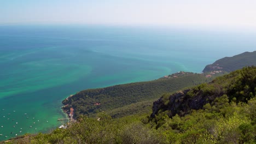
POLYGON ((247 27, 255 0, 0 0, 0 24, 247 27))

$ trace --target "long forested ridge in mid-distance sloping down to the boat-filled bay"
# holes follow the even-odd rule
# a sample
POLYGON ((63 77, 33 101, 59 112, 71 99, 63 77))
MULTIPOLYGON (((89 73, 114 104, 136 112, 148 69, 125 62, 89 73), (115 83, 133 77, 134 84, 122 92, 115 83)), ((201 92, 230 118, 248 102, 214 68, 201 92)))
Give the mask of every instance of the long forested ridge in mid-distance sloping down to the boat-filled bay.
MULTIPOLYGON (((65 110, 74 108, 74 117, 81 114, 92 115, 101 111, 109 112, 111 115, 114 109, 150 100, 150 103, 161 97, 164 93, 172 93, 184 87, 191 87, 199 83, 208 82, 212 78, 206 78, 204 74, 184 73, 181 71, 175 77, 171 75, 154 81, 128 83, 106 88, 87 89, 62 101, 65 110)), ((152 104, 152 103, 151 103, 152 104)), ((126 107, 125 107, 126 106, 126 107)), ((139 105, 133 105, 130 113, 137 113, 139 105)), ((118 113, 123 115, 127 110, 114 110, 113 117, 118 117, 118 113), (123 112, 122 112, 123 111, 123 112), (122 114, 123 113, 123 114, 122 114)))

